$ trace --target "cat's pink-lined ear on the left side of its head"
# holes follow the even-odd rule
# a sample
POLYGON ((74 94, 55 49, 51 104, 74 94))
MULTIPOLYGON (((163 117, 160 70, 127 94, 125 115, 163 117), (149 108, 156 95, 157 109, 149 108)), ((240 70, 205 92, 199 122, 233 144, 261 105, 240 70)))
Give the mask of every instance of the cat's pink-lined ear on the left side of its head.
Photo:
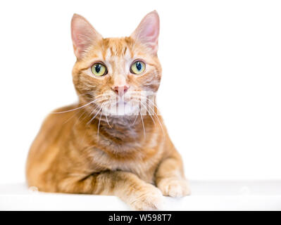
POLYGON ((71 20, 71 37, 77 59, 82 58, 90 45, 102 39, 101 34, 81 15, 74 14, 71 20))

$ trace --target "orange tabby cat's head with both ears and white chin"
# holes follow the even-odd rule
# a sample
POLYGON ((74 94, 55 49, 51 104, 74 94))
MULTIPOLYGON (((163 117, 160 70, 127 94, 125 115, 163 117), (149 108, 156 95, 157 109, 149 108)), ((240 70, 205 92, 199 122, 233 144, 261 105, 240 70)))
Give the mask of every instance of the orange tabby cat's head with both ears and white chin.
POLYGON ((77 62, 73 82, 82 103, 106 115, 132 115, 147 108, 161 80, 157 57, 159 18, 144 17, 130 37, 106 38, 74 15, 72 39, 77 62))

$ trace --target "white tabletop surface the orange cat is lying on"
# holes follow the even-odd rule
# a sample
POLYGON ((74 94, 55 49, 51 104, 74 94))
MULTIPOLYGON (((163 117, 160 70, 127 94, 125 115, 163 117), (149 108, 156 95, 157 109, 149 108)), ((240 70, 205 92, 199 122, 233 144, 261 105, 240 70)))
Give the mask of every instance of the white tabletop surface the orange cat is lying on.
MULTIPOLYGON (((166 198, 163 210, 281 210, 281 181, 191 181, 192 195, 166 198)), ((38 193, 0 186, 0 210, 130 210, 115 196, 38 193)))

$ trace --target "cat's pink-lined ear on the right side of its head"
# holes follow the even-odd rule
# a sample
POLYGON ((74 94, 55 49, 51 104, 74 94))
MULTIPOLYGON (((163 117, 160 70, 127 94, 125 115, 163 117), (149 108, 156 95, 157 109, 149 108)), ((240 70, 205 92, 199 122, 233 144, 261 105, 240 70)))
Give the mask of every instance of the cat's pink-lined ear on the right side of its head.
POLYGON ((131 34, 132 39, 141 42, 151 49, 152 53, 158 51, 159 16, 156 11, 147 14, 137 29, 131 34))

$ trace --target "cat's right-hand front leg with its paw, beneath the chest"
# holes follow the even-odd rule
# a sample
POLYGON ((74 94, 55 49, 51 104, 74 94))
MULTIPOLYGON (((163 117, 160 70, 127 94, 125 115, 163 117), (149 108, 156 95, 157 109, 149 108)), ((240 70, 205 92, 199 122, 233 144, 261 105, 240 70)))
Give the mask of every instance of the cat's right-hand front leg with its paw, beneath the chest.
POLYGON ((189 185, 183 172, 182 159, 176 151, 158 166, 155 181, 163 195, 183 197, 190 194, 189 185))

